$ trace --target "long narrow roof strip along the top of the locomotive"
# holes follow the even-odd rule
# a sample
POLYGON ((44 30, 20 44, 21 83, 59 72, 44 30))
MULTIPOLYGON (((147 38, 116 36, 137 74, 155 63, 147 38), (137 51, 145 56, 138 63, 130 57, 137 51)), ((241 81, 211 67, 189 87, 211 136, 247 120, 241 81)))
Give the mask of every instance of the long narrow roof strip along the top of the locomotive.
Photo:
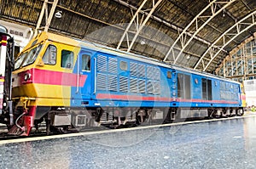
POLYGON ((97 44, 95 42, 81 41, 79 39, 63 37, 61 35, 57 35, 57 34, 53 34, 53 33, 49 33, 49 32, 42 32, 41 35, 39 35, 38 37, 39 38, 43 37, 43 39, 48 38, 51 41, 61 42, 61 43, 72 45, 72 46, 80 46, 81 48, 83 48, 83 47, 91 48, 96 51, 101 51, 102 53, 118 55, 118 56, 124 57, 126 59, 135 59, 137 61, 146 62, 146 63, 152 64, 152 65, 159 65, 159 66, 166 67, 166 68, 186 71, 191 74, 207 76, 207 77, 215 78, 215 79, 226 81, 226 82, 233 82, 233 83, 241 84, 240 82, 231 81, 230 79, 226 79, 222 76, 212 75, 212 74, 209 74, 206 72, 201 72, 199 70, 190 70, 189 68, 184 68, 184 67, 177 66, 177 65, 168 65, 166 63, 160 62, 157 59, 150 59, 148 57, 145 57, 145 56, 139 55, 139 54, 131 54, 131 53, 128 53, 128 52, 125 52, 125 51, 122 51, 122 50, 119 50, 116 48, 110 48, 110 47, 107 47, 107 46, 104 46, 101 44, 97 44))

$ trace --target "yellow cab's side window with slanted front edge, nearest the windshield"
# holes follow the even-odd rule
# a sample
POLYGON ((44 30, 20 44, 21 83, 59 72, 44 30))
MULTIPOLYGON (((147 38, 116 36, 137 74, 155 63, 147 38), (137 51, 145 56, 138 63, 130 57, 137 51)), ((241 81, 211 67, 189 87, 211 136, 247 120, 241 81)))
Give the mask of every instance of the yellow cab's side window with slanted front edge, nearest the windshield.
POLYGON ((55 65, 56 64, 56 47, 53 45, 49 45, 48 48, 46 49, 44 56, 43 56, 43 61, 44 64, 46 65, 55 65))

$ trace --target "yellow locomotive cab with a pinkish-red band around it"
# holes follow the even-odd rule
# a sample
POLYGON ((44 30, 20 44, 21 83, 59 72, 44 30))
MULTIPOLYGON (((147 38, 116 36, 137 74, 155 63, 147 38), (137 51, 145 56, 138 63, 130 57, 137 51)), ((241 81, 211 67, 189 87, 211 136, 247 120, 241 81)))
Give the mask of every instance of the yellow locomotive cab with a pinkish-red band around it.
POLYGON ((73 39, 67 37, 63 39, 46 32, 35 37, 16 59, 13 72, 13 97, 33 98, 36 100, 36 103, 30 102, 33 106, 69 106, 70 93, 67 91, 70 87, 61 83, 73 70, 62 68, 59 60, 63 48, 73 51, 73 59, 76 59, 79 48, 73 46, 75 44, 78 42, 73 39), (50 39, 55 39, 56 42, 50 39))

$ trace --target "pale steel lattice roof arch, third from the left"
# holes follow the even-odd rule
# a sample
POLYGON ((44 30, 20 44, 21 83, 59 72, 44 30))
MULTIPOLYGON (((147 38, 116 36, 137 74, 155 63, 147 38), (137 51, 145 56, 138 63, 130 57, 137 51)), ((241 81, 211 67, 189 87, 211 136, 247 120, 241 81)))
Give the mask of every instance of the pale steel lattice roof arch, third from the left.
POLYGON ((166 57, 165 57, 164 61, 166 61, 166 59, 169 57, 169 54, 172 54, 172 57, 173 57, 173 60, 174 60, 173 64, 176 64, 177 59, 183 53, 183 50, 186 47, 188 47, 189 42, 191 42, 195 38, 197 33, 199 33, 217 14, 222 12, 224 10, 224 8, 227 8, 228 6, 230 6, 231 3, 234 3, 235 1, 236 0, 229 0, 229 1, 225 1, 225 2, 218 2, 216 0, 213 0, 211 3, 209 3, 206 8, 202 9, 201 12, 195 16, 195 18, 189 23, 189 25, 187 25, 184 28, 182 33, 177 37, 176 41, 172 44, 171 48, 166 53, 166 57), (224 5, 223 8, 220 8, 217 11, 216 7, 217 7, 217 5, 219 3, 224 3, 225 5, 224 5), (209 9, 212 11, 212 15, 204 15, 205 12, 207 10, 209 10, 209 9), (203 25, 201 25, 201 26, 199 26, 199 19, 200 18, 207 18, 207 21, 203 25), (189 30, 190 26, 194 26, 194 25, 195 25, 195 32, 192 35, 192 37, 190 37, 189 40, 186 41, 186 36, 185 36, 186 34, 185 34, 185 32, 189 30), (174 54, 173 48, 174 48, 174 46, 177 45, 177 42, 181 42, 182 48, 181 48, 179 54, 177 54, 177 57, 176 57, 175 54, 174 54))

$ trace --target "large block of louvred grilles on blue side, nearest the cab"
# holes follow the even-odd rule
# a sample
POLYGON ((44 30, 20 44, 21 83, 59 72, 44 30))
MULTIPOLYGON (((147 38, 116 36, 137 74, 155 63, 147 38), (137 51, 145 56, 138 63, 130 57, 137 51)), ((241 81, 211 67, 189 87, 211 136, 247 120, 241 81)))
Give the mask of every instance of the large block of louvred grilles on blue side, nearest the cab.
POLYGON ((122 93, 160 94, 160 69, 130 63, 130 76, 118 75, 118 59, 97 56, 96 89, 122 93))

